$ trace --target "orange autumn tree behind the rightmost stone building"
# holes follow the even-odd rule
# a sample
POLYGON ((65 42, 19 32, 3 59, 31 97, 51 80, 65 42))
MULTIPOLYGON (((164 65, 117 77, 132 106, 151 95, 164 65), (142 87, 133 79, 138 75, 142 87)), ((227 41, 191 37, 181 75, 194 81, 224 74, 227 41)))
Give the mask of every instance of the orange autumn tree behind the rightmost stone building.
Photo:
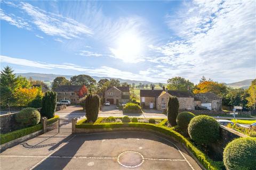
POLYGON ((224 83, 218 83, 215 81, 202 81, 196 85, 193 90, 194 94, 213 92, 216 95, 222 96, 227 92, 227 86, 224 83))

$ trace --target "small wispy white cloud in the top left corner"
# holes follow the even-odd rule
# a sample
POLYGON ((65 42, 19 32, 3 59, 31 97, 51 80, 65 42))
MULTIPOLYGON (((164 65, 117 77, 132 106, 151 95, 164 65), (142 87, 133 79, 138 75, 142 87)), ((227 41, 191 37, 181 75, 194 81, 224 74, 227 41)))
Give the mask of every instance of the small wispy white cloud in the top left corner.
POLYGON ((22 18, 15 16, 14 14, 6 14, 2 9, 0 9, 1 20, 7 21, 18 28, 30 29, 28 22, 24 21, 22 18))

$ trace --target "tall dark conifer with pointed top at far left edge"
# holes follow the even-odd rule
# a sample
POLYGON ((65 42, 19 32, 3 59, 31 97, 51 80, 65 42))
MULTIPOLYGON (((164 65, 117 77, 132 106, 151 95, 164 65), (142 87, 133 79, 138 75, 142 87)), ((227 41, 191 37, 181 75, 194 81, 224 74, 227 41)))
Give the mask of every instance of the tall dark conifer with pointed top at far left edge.
POLYGON ((15 103, 14 91, 18 87, 18 80, 13 73, 13 70, 10 66, 4 67, 1 71, 1 105, 6 106, 9 104, 10 106, 15 103))

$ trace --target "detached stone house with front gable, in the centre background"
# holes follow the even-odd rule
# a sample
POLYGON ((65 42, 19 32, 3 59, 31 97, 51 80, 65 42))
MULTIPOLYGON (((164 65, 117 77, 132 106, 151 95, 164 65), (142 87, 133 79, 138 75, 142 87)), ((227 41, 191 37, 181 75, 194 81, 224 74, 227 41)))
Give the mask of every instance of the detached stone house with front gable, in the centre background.
POLYGON ((130 100, 130 87, 110 87, 105 91, 104 98, 110 104, 127 103, 130 100))

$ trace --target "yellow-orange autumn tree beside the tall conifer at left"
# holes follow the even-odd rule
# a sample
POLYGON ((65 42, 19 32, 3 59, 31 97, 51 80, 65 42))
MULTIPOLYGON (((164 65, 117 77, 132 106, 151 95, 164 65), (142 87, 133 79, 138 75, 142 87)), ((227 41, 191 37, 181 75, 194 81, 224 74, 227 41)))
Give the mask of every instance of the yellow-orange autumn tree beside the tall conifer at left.
POLYGON ((27 106, 37 96, 42 96, 41 88, 19 88, 15 91, 15 98, 17 98, 18 106, 27 106))

